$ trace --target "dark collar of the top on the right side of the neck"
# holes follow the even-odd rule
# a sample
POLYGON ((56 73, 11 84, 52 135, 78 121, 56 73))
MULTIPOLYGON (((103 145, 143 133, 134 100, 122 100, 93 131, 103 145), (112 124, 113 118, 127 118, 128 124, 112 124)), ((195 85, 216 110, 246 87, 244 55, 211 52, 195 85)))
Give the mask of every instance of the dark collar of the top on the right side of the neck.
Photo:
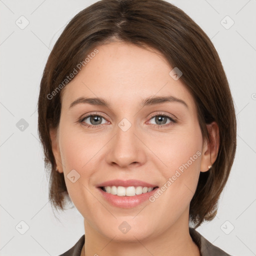
POLYGON ((227 254, 225 251, 221 250, 219 247, 210 243, 194 228, 189 227, 189 234, 192 237, 193 241, 199 247, 201 256, 231 256, 230 254, 227 254))

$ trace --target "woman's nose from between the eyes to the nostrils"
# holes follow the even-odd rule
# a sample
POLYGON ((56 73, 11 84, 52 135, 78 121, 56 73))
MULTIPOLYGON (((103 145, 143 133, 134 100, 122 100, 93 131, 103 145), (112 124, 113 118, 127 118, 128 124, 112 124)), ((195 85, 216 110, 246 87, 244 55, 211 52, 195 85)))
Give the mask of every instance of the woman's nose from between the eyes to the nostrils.
POLYGON ((125 121, 119 123, 108 145, 106 161, 110 165, 117 164, 121 168, 129 168, 130 165, 142 165, 146 160, 146 146, 141 142, 142 135, 134 124, 126 130, 127 125, 125 121))

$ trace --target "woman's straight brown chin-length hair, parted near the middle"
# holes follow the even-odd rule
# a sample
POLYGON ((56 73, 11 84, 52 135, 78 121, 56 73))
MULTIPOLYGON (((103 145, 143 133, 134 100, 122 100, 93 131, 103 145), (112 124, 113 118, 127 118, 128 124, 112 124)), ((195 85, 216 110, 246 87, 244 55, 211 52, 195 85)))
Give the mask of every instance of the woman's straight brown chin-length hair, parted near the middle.
POLYGON ((195 101, 202 137, 209 139, 206 124, 216 121, 219 127, 217 158, 208 171, 200 172, 190 201, 189 218, 196 228, 216 214, 234 160, 236 117, 225 72, 209 37, 184 11, 165 0, 97 1, 78 12, 54 44, 38 97, 38 133, 50 172, 51 205, 63 210, 64 200, 70 201, 51 148, 49 131, 59 124, 62 90, 53 91, 63 87, 63 80, 78 63, 84 63, 92 49, 115 40, 153 47, 162 53, 170 66, 182 71, 179 79, 195 101))

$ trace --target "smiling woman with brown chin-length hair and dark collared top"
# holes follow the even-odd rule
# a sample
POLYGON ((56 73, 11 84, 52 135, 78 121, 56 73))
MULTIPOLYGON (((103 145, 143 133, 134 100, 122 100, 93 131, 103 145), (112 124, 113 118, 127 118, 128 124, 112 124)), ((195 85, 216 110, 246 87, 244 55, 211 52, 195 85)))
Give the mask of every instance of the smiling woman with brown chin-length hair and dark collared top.
POLYGON ((233 163, 232 96, 176 6, 101 0, 76 14, 44 68, 38 131, 52 205, 84 218, 61 255, 229 255, 194 228, 215 216, 233 163))

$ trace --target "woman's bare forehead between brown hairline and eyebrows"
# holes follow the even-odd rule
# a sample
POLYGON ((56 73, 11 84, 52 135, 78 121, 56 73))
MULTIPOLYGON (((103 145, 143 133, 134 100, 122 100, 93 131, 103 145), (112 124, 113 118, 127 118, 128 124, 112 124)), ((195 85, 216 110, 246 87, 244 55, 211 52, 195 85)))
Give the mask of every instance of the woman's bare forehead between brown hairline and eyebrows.
POLYGON ((104 98, 118 107, 138 106, 142 99, 153 95, 172 95, 184 100, 191 111, 195 110, 183 81, 169 75, 173 67, 156 49, 120 41, 96 49, 98 52, 87 59, 86 65, 61 92, 65 108, 81 96, 104 98))

